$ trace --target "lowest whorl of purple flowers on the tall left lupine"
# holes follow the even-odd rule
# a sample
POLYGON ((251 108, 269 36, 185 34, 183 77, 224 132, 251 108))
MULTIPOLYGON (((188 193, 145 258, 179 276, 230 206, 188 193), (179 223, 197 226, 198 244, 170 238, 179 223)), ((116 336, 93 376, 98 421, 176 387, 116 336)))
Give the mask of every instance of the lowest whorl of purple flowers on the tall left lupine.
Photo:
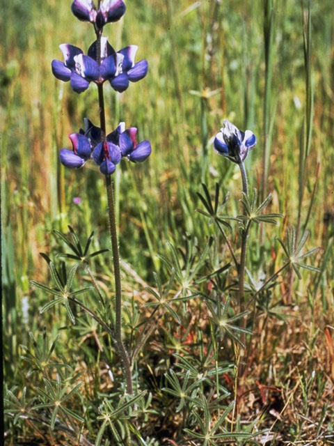
POLYGON ((102 139, 102 130, 87 118, 85 127, 86 130, 80 129, 78 133, 70 134, 72 151, 67 148, 61 149, 61 163, 70 169, 78 169, 84 166, 86 161, 93 159, 100 166, 102 174, 111 175, 122 158, 141 162, 150 156, 152 151, 150 141, 141 141, 138 144, 135 127, 125 129, 125 123, 120 123, 105 140, 102 139))

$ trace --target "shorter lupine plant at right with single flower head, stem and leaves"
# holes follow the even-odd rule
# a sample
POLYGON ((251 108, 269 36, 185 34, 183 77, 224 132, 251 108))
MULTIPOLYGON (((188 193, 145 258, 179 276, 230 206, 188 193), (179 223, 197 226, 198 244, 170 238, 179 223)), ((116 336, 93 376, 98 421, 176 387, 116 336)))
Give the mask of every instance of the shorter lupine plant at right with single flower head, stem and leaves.
MULTIPOLYGON (((246 362, 250 354, 246 346, 246 334, 251 334, 251 331, 249 330, 249 328, 247 328, 247 316, 250 313, 249 310, 250 305, 253 304, 254 308, 256 307, 258 296, 263 291, 268 289, 269 286, 272 284, 272 282, 275 281, 275 279, 277 279, 278 275, 280 275, 283 272, 283 270, 285 270, 285 268, 287 268, 288 266, 291 268, 291 270, 294 270, 296 272, 296 275, 299 277, 299 279, 301 279, 299 268, 305 268, 308 270, 319 272, 318 268, 315 268, 313 266, 301 262, 303 259, 310 256, 311 254, 315 254, 319 250, 318 248, 315 248, 311 249, 309 252, 305 252, 303 254, 301 253, 306 241, 308 240, 309 236, 308 231, 305 230, 301 239, 296 240, 296 233, 294 227, 292 227, 291 231, 287 229, 287 245, 285 246, 283 241, 278 238, 278 241, 280 245, 282 245, 284 252, 287 256, 285 263, 271 277, 265 279, 264 283, 262 283, 260 286, 258 287, 256 285, 253 286, 250 298, 248 298, 248 302, 246 303, 246 272, 248 272, 250 281, 253 280, 252 277, 250 276, 250 272, 246 268, 247 240, 250 228, 251 226, 253 226, 254 223, 256 223, 257 225, 261 223, 277 224, 276 219, 279 217, 283 217, 283 215, 279 213, 262 213, 262 211, 267 206, 269 206, 269 203, 271 202, 272 199, 271 194, 269 194, 268 197, 264 199, 262 203, 260 203, 260 205, 257 205, 256 189, 253 190, 253 197, 250 197, 244 162, 246 160, 248 152, 253 147, 255 147, 256 144, 257 144, 257 138, 255 137, 255 134, 253 132, 251 132, 250 130, 242 132, 234 124, 230 123, 230 121, 228 121, 227 119, 224 120, 223 128, 221 128, 221 131, 218 132, 216 134, 216 137, 214 138, 215 151, 220 155, 223 155, 223 157, 227 157, 228 160, 236 163, 239 166, 241 173, 241 183, 242 183, 242 192, 240 201, 243 208, 243 213, 241 215, 237 215, 235 217, 218 215, 218 195, 219 195, 218 185, 216 186, 214 207, 212 206, 211 198, 209 196, 209 192, 207 190, 206 185, 204 184, 202 185, 205 192, 205 197, 203 197, 202 194, 198 193, 200 200, 202 201, 202 203, 206 208, 206 211, 200 210, 200 213, 202 213, 206 217, 209 217, 217 224, 218 229, 221 231, 223 235, 225 243, 228 245, 228 248, 230 250, 230 255, 232 256, 232 259, 234 261, 234 266, 237 270, 237 276, 238 276, 237 295, 239 300, 239 311, 232 318, 232 321, 237 321, 237 320, 240 321, 239 328, 234 327, 240 334, 238 338, 234 337, 234 340, 237 341, 239 346, 241 346, 241 351, 239 355, 239 367, 237 373, 237 376, 239 376, 239 378, 243 378, 244 374, 247 371, 246 362), (241 239, 239 260, 237 259, 237 256, 234 253, 234 249, 232 248, 232 245, 230 244, 228 237, 226 236, 226 233, 221 226, 223 224, 227 226, 229 229, 232 229, 229 224, 229 220, 236 220, 237 222, 239 222, 239 233, 241 239)), ((227 199, 225 198, 223 201, 223 206, 225 206, 226 201, 227 199)), ((220 206, 220 208, 221 207, 222 206, 220 206)), ((223 316, 218 315, 218 317, 215 316, 215 311, 212 305, 209 305, 211 313, 214 315, 214 319, 216 319, 215 321, 216 325, 218 325, 218 327, 220 326, 221 328, 225 328, 225 330, 228 330, 229 320, 226 318, 226 315, 229 304, 230 304, 230 298, 228 297, 225 301, 225 304, 223 305, 223 316)), ((220 312, 219 307, 217 308, 217 311, 218 313, 220 312)), ((255 316, 255 309, 253 310, 253 317, 254 316, 255 316)))

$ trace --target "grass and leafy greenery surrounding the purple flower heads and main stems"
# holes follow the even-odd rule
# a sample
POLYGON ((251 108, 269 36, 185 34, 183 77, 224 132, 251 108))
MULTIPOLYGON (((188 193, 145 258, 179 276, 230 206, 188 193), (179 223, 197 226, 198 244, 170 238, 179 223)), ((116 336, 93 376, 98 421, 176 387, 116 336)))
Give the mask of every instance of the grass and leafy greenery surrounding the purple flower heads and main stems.
POLYGON ((74 95, 51 75, 58 43, 94 39, 70 3, 3 2, 0 17, 8 445, 333 443, 331 1, 134 0, 113 24, 109 42, 150 65, 129 94, 105 89, 108 129, 126 117, 153 148, 115 177, 133 395, 104 181, 58 162, 67 134, 99 116, 94 89, 74 95), (212 150, 225 117, 257 134, 246 167, 260 204, 212 150))

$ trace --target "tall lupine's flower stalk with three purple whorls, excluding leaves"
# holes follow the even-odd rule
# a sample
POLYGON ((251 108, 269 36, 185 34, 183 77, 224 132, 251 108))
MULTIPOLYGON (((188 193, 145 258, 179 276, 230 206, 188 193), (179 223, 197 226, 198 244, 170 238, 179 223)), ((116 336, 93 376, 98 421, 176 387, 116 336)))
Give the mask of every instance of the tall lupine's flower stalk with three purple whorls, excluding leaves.
POLYGON ((106 117, 104 112, 104 83, 122 93, 129 87, 129 82, 138 82, 148 72, 148 62, 143 59, 135 62, 138 47, 129 45, 116 52, 102 36, 104 26, 109 22, 120 20, 125 13, 125 3, 122 0, 103 0, 97 6, 93 0, 74 0, 72 13, 84 22, 90 22, 95 31, 96 40, 88 48, 87 54, 74 45, 60 45, 64 61, 54 60, 51 63, 52 72, 57 79, 70 82, 76 93, 82 93, 90 84, 97 85, 99 95, 100 127, 93 125, 85 118, 84 130, 70 134, 72 150, 63 148, 60 152, 61 163, 70 169, 79 169, 86 162, 94 162, 106 178, 106 194, 108 197, 109 225, 111 245, 113 250, 113 273, 115 277, 115 343, 125 371, 127 392, 132 389, 132 366, 129 353, 122 341, 122 292, 120 282, 120 259, 118 254, 118 237, 114 209, 113 181, 111 175, 122 159, 132 162, 142 162, 151 153, 150 142, 145 140, 137 143, 137 129, 125 128, 125 123, 118 124, 116 130, 106 132, 106 117))

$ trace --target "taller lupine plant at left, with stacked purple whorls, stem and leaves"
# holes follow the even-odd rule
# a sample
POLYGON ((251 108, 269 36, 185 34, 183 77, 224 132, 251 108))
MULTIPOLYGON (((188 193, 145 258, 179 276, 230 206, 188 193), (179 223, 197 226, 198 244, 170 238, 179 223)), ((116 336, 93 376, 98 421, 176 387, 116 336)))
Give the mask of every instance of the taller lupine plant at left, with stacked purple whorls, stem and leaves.
MULTIPOLYGON (((125 3, 122 0, 99 0, 97 6, 93 0, 74 0, 72 3, 72 13, 79 20, 89 22, 93 25, 96 40, 88 48, 87 54, 84 54, 84 52, 77 46, 70 44, 60 45, 64 61, 52 61, 51 70, 57 79, 63 82, 70 82, 70 86, 75 93, 83 93, 90 86, 96 84, 99 99, 97 110, 100 115, 100 126, 94 125, 92 121, 90 121, 90 118, 85 118, 84 129, 80 129, 79 132, 73 132, 69 136, 72 143, 72 150, 62 148, 59 153, 59 159, 61 164, 70 169, 81 169, 86 163, 93 162, 100 167, 100 172, 105 177, 113 256, 113 285, 115 289, 114 318, 110 317, 110 314, 109 316, 106 314, 103 314, 102 317, 99 316, 95 312, 96 310, 86 307, 83 302, 77 299, 77 295, 86 293, 89 289, 95 288, 102 305, 104 305, 105 308, 111 307, 111 302, 108 302, 108 304, 104 302, 97 281, 88 266, 90 259, 103 252, 109 251, 109 249, 100 249, 98 252, 88 252, 90 243, 93 239, 93 233, 88 238, 86 246, 81 247, 79 238, 72 227, 69 226, 73 243, 68 240, 63 233, 55 231, 55 235, 72 251, 71 254, 65 254, 65 257, 67 259, 72 259, 77 263, 74 264, 67 275, 64 263, 62 263, 60 269, 57 269, 54 262, 52 262, 46 254, 42 254, 43 258, 48 263, 54 287, 49 288, 37 281, 32 281, 31 284, 45 293, 48 293, 53 298, 53 300, 47 302, 41 309, 41 313, 61 304, 65 307, 70 321, 75 324, 76 317, 71 309, 71 305, 75 304, 84 310, 90 318, 93 318, 102 329, 106 330, 109 336, 111 336, 111 339, 113 339, 113 344, 116 347, 116 351, 122 362, 122 371, 125 375, 126 383, 125 393, 131 397, 134 394, 132 384, 132 357, 122 339, 122 286, 120 279, 120 256, 118 253, 118 235, 116 232, 112 174, 115 172, 117 164, 119 164, 123 158, 133 163, 145 161, 151 153, 151 145, 147 140, 141 141, 138 144, 136 140, 137 128, 125 128, 124 122, 119 123, 115 130, 107 132, 103 89, 104 83, 109 81, 111 88, 116 92, 124 92, 129 87, 129 82, 138 82, 147 75, 148 62, 145 59, 137 63, 135 62, 135 56, 138 49, 136 45, 129 45, 116 52, 108 42, 108 38, 102 35, 106 24, 120 20, 122 15, 125 14, 125 3), (89 273, 90 279, 94 284, 93 287, 79 290, 72 289, 74 277, 79 266, 83 266, 89 273)), ((109 300, 110 299, 111 296, 109 295, 109 300)), ((54 349, 54 344, 51 351, 54 349)), ((37 344, 35 343, 34 345, 36 352, 38 352, 37 344)), ((31 358, 34 357, 33 354, 26 349, 25 351, 27 360, 31 362, 31 358)), ((54 383, 54 380, 51 380, 51 376, 47 373, 49 356, 42 362, 38 361, 38 364, 38 371, 42 374, 42 380, 44 380, 45 383, 45 390, 40 390, 39 394, 45 401, 38 403, 33 407, 33 410, 48 410, 49 408, 53 408, 50 419, 51 429, 58 426, 59 417, 64 419, 64 417, 69 416, 79 422, 84 422, 82 417, 63 406, 63 401, 70 399, 73 394, 77 394, 77 390, 79 390, 82 383, 75 385, 70 393, 66 393, 67 386, 63 389, 61 387, 61 381, 62 378, 64 378, 64 375, 57 374, 56 383, 54 383), (53 390, 54 384, 56 385, 56 392, 53 390)), ((109 423, 107 421, 112 420, 113 415, 116 415, 116 413, 124 413, 129 406, 133 406, 142 396, 143 394, 137 394, 133 399, 125 399, 123 404, 120 403, 116 412, 106 415, 106 417, 104 417, 104 411, 102 409, 102 419, 105 421, 102 423, 101 429, 97 434, 96 445, 100 444, 107 424, 111 425, 111 430, 114 433, 116 432, 111 421, 109 423)), ((104 407, 108 408, 109 406, 109 403, 104 402, 104 407)), ((65 425, 67 425, 66 422, 65 425)), ((75 431, 73 427, 70 429, 72 429, 72 433, 75 431)), ((115 436, 116 440, 118 440, 119 437, 117 433, 115 433, 115 436)), ((79 441, 81 436, 79 435, 77 438, 79 441)), ((86 444, 89 443, 86 439, 81 438, 81 441, 84 443, 86 442, 86 444)))

